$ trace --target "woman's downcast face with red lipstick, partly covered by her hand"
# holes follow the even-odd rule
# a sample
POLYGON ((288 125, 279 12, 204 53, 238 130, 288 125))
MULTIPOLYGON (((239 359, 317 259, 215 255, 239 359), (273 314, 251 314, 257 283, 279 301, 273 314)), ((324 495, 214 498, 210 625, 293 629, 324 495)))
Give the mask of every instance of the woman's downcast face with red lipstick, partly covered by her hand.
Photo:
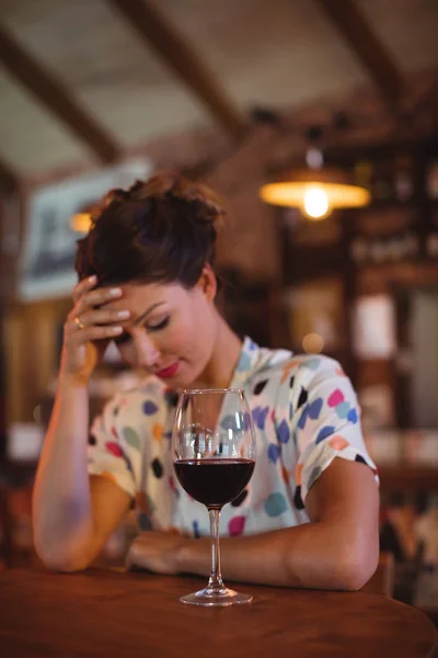
POLYGON ((115 340, 122 358, 142 367, 172 388, 189 386, 211 358, 217 313, 216 279, 203 274, 192 290, 178 283, 123 284, 122 297, 106 306, 129 310, 115 340))

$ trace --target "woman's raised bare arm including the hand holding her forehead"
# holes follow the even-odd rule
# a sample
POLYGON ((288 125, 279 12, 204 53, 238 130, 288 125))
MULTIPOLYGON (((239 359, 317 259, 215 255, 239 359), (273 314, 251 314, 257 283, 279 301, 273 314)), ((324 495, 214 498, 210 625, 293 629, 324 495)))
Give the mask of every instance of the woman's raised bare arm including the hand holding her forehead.
POLYGON ((33 494, 36 552, 48 567, 60 570, 87 566, 129 506, 116 485, 94 481, 103 478, 90 485, 88 475, 88 383, 107 338, 115 334, 108 322, 116 320, 114 313, 95 308, 105 303, 107 291, 92 290, 94 284, 83 281, 73 292, 76 305, 65 325, 58 390, 33 494), (74 321, 79 314, 83 329, 74 321))

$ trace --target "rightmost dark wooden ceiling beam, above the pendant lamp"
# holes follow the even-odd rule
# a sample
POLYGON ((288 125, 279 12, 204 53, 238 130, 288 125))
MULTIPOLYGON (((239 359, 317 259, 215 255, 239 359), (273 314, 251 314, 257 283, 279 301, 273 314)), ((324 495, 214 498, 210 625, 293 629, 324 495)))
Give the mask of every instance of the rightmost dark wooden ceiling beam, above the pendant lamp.
POLYGON ((396 112, 403 93, 403 78, 366 18, 353 0, 314 1, 349 44, 360 64, 371 76, 381 95, 396 112))

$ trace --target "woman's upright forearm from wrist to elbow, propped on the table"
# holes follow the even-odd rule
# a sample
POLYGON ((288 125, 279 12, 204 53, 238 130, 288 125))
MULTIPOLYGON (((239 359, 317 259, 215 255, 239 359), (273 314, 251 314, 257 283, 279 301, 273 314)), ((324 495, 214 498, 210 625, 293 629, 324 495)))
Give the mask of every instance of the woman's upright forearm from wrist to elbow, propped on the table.
POLYGON ((54 568, 65 567, 93 533, 88 431, 87 385, 60 378, 33 494, 35 548, 54 568))

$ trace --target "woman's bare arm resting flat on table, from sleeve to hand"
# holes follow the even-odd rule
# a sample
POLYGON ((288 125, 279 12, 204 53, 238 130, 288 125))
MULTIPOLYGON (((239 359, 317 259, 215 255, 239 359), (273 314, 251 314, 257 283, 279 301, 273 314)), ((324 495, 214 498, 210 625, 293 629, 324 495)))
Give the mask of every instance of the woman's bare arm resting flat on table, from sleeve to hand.
MULTIPOLYGON (((334 460, 309 491, 307 510, 310 523, 221 540, 223 578, 315 589, 362 587, 379 559, 379 492, 370 468, 334 460)), ((148 536, 153 534, 143 533, 135 542, 129 564, 166 572, 209 574, 208 538, 148 536)))

